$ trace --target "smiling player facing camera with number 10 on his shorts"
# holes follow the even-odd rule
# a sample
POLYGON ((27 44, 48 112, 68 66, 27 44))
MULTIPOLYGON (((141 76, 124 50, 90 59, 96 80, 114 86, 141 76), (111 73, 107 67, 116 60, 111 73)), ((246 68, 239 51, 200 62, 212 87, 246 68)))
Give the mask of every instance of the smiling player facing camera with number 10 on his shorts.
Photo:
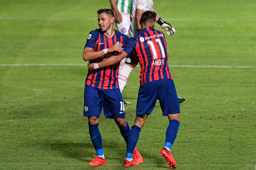
MULTIPOLYGON (((128 37, 114 30, 115 13, 109 8, 97 11, 100 29, 91 31, 84 47, 83 59, 101 62, 123 50, 122 46, 128 37)), ((89 133, 97 156, 88 165, 98 166, 106 164, 103 153, 102 137, 100 134, 99 116, 102 108, 106 118, 115 120, 120 128, 124 140, 128 141, 130 127, 125 120, 125 109, 122 94, 118 86, 119 63, 96 71, 88 71, 84 88, 84 116, 88 117, 89 133)), ((134 158, 139 162, 143 159, 137 149, 134 158)))

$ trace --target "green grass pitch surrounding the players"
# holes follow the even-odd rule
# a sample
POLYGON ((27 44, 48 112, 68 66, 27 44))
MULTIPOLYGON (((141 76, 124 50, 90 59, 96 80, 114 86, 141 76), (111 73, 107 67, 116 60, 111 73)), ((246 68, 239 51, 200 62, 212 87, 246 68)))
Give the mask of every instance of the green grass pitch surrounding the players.
MULTIPOLYGON (((1 0, 0 64, 86 64, 82 51, 108 0, 1 0)), ((155 0, 174 25, 166 37, 169 64, 254 68, 171 67, 181 106, 172 152, 177 170, 253 170, 256 164, 256 1, 155 0)), ((156 26, 157 29, 161 29, 156 26)), ((1 170, 162 170, 167 117, 159 103, 137 146, 144 163, 123 168, 126 145, 113 120, 100 117, 107 165, 89 167, 95 150, 83 90, 87 66, 0 66, 1 170)), ((133 124, 139 67, 123 96, 133 124)), ((89 97, 89 96, 88 96, 89 97)))

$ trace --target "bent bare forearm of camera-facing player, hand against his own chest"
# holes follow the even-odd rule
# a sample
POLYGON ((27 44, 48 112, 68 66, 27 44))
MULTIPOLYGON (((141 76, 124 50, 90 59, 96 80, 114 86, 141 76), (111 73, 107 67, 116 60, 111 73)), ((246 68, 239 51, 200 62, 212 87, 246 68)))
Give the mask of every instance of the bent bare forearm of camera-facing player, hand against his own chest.
POLYGON ((99 51, 93 51, 92 48, 85 47, 84 52, 83 52, 83 59, 85 61, 94 60, 96 58, 99 58, 99 57, 105 55, 108 52, 114 52, 114 51, 121 52, 121 51, 123 51, 123 48, 120 47, 122 45, 123 44, 115 44, 115 45, 113 45, 109 48, 105 48, 105 49, 102 49, 102 50, 99 50, 99 51))

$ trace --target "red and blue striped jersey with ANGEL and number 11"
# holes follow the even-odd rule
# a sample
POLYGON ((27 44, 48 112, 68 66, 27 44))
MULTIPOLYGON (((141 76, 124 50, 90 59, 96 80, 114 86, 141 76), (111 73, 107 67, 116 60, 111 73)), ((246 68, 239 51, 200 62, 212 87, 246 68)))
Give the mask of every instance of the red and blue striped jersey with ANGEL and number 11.
POLYGON ((141 85, 160 79, 172 79, 163 32, 146 27, 126 42, 124 51, 128 55, 133 51, 139 58, 141 85))

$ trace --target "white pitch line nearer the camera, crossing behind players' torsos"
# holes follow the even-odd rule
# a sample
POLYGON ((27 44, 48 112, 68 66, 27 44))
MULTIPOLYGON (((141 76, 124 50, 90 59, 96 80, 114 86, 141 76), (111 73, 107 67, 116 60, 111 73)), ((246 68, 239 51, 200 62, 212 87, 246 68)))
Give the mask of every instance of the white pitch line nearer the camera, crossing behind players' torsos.
MULTIPOLYGON (((0 66, 87 66, 87 64, 0 64, 0 66)), ((187 68, 256 68, 256 66, 231 66, 231 65, 169 65, 170 67, 187 67, 187 68)))

